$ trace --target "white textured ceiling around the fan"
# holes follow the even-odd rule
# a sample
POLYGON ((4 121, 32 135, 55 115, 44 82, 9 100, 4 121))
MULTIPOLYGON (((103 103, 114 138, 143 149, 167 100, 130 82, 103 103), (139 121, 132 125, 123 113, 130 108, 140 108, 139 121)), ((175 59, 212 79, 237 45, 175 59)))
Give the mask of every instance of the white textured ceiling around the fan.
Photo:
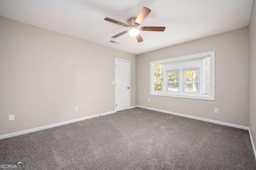
POLYGON ((0 16, 141 54, 246 27, 252 3, 253 0, 0 0, 0 16), (151 13, 141 26, 165 26, 164 32, 141 32, 144 41, 140 43, 129 34, 111 38, 127 28, 104 18, 127 24, 144 6, 151 13))

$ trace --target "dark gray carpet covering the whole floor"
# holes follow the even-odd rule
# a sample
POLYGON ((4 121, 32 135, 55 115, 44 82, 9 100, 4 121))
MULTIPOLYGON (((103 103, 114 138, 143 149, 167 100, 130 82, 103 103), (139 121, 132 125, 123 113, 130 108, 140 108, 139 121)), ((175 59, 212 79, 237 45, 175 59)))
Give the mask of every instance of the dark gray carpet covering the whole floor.
POLYGON ((26 170, 254 170, 247 130, 134 108, 0 140, 26 170))

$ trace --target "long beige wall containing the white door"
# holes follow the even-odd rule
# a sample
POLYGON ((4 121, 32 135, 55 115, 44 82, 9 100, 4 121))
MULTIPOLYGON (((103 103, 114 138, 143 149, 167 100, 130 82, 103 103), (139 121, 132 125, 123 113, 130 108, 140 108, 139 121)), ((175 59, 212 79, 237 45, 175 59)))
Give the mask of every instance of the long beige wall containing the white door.
POLYGON ((115 57, 136 105, 136 55, 0 17, 0 135, 114 111, 115 57))

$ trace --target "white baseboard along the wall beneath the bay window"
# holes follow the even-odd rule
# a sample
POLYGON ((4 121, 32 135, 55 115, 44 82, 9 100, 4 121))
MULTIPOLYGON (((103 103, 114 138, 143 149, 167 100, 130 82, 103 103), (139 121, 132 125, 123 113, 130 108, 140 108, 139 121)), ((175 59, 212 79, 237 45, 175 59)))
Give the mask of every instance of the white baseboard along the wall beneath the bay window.
POLYGON ((242 126, 242 125, 236 125, 236 124, 232 124, 232 123, 214 121, 212 119, 205 119, 205 118, 201 118, 201 117, 184 115, 184 114, 181 114, 181 113, 174 113, 174 112, 170 112, 170 111, 154 109, 154 108, 151 108, 151 107, 144 107, 144 106, 137 106, 137 107, 140 107, 140 108, 143 108, 143 109, 149 109, 149 110, 152 110, 152 111, 158 111, 158 112, 168 113, 168 114, 172 114, 172 115, 177 115, 177 116, 181 116, 181 117, 187 117, 187 118, 190 118, 190 119, 196 119, 196 120, 200 120, 200 121, 215 123, 215 124, 219 124, 219 125, 225 125, 225 126, 228 126, 228 127, 241 128, 241 129, 244 129, 244 130, 248 130, 249 129, 248 127, 245 127, 245 126, 242 126))

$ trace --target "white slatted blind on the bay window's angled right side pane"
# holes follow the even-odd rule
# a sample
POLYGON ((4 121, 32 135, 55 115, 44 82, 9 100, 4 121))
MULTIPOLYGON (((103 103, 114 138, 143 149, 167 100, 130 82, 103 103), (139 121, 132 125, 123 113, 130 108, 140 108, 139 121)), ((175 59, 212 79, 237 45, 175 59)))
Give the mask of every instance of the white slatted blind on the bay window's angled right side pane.
POLYGON ((202 95, 210 96, 210 56, 202 58, 202 95))

